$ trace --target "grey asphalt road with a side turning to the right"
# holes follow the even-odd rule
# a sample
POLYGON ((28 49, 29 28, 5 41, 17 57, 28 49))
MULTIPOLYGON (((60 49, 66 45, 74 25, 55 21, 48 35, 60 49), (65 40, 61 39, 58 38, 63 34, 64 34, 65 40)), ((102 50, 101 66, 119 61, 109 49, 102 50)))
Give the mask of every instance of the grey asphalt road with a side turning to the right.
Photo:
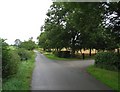
POLYGON ((36 51, 31 90, 110 90, 86 72, 94 60, 56 61, 36 51))

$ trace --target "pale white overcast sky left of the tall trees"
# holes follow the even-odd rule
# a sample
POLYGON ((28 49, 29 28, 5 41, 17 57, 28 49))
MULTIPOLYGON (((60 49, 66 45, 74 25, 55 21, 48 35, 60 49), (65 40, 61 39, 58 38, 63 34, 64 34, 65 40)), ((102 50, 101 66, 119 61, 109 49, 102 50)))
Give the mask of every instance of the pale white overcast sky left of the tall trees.
POLYGON ((52 0, 0 0, 0 38, 8 44, 30 37, 37 42, 51 4, 52 0))

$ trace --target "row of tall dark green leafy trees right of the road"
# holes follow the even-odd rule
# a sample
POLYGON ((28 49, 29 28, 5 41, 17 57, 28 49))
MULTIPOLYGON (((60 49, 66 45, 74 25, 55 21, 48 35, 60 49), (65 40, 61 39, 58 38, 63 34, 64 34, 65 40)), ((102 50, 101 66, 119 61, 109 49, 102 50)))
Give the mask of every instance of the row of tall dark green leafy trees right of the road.
POLYGON ((38 37, 44 49, 120 48, 120 2, 53 2, 38 37))

